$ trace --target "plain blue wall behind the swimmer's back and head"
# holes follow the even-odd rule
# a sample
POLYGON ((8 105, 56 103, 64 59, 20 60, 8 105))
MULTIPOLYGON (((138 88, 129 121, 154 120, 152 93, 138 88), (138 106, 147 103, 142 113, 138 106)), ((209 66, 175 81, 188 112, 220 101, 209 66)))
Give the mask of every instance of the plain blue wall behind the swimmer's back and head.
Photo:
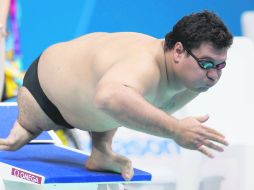
POLYGON ((234 35, 254 0, 23 0, 21 48, 24 69, 49 45, 94 31, 137 31, 163 38, 186 14, 208 9, 234 35))

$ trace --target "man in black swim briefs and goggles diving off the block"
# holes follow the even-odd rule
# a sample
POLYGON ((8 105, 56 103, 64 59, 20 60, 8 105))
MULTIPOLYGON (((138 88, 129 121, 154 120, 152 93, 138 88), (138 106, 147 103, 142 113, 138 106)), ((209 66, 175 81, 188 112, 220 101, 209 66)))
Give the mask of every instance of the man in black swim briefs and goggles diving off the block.
POLYGON ((232 35, 214 14, 183 17, 165 39, 133 33, 91 33, 47 48, 28 69, 18 95, 19 116, 0 149, 17 150, 42 131, 90 131, 85 166, 130 180, 131 161, 112 151, 119 126, 171 138, 213 157, 225 137, 205 126, 208 116, 171 114, 215 85, 232 35), (217 143, 214 143, 217 142, 217 143))

